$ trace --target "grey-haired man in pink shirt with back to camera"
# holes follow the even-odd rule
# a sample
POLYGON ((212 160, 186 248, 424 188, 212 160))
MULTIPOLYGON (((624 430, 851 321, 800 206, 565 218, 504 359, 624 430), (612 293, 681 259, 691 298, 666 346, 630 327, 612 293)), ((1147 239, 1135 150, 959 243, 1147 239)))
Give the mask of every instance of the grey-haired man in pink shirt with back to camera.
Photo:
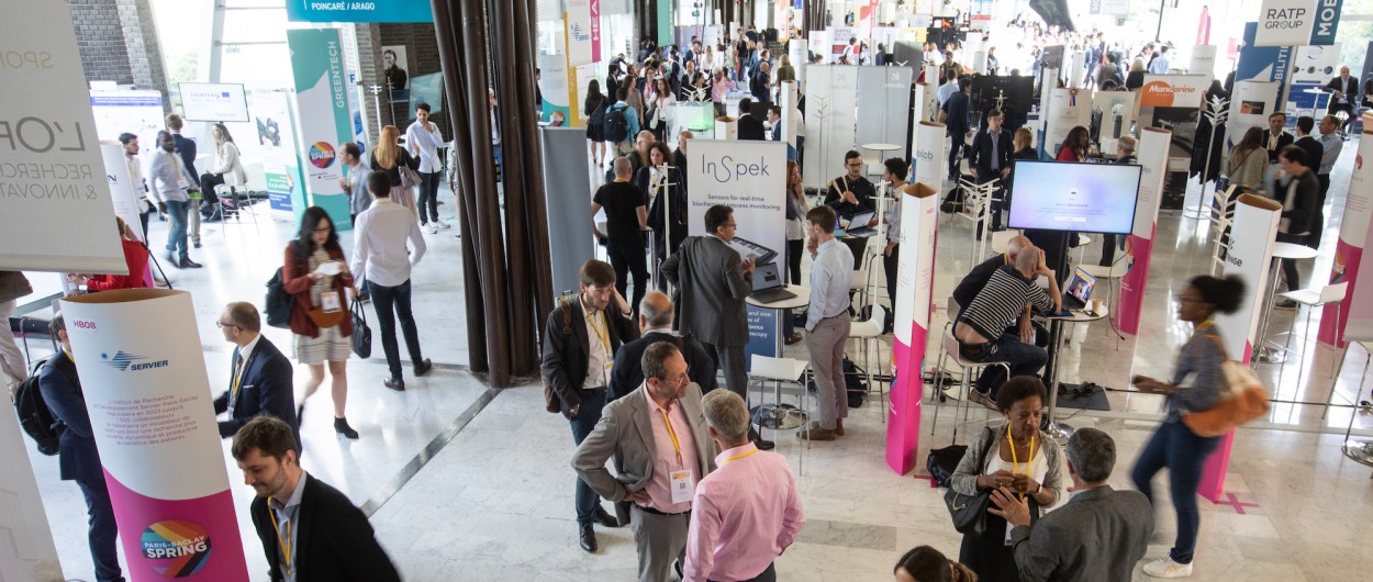
POLYGON ((686 535, 686 582, 773 582, 773 559, 806 523, 787 458, 748 442, 748 406, 714 390, 702 399, 719 467, 696 486, 686 535))

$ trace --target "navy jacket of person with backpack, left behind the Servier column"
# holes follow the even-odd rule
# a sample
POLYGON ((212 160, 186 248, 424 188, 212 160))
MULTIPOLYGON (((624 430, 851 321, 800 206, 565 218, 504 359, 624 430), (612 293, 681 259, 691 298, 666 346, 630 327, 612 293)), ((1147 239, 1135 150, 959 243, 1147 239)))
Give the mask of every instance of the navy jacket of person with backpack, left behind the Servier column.
POLYGON ((38 371, 38 393, 52 419, 66 424, 58 438, 58 471, 63 480, 103 480, 100 452, 95 446, 91 416, 81 393, 77 365, 66 351, 58 351, 38 371))

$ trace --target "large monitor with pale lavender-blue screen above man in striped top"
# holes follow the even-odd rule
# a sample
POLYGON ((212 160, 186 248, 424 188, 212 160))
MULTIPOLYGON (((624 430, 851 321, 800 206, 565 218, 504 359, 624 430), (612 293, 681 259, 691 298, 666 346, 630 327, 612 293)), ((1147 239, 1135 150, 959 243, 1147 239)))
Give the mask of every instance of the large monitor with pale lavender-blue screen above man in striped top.
POLYGON ((1016 161, 1011 228, 1129 235, 1141 166, 1016 161))

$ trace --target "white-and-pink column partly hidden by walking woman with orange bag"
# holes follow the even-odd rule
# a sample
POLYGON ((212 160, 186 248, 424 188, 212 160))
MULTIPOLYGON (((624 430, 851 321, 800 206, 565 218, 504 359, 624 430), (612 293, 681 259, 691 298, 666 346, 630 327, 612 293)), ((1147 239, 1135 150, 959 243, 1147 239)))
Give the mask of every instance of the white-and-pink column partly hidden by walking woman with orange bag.
MULTIPOLYGON (((1230 358, 1249 364, 1258 338, 1259 318, 1269 307, 1269 281, 1273 265, 1273 244, 1277 240, 1278 217, 1282 205, 1267 198, 1240 195, 1234 203, 1234 226, 1230 229, 1230 246, 1226 251, 1225 276, 1237 275, 1244 280, 1244 298, 1240 309, 1230 314, 1216 314, 1215 327, 1225 340, 1225 353, 1230 358)), ((1225 496, 1225 474, 1230 464, 1230 446, 1234 431, 1221 438, 1221 445, 1207 458, 1201 468, 1201 483, 1197 493, 1211 502, 1219 502, 1225 496)))

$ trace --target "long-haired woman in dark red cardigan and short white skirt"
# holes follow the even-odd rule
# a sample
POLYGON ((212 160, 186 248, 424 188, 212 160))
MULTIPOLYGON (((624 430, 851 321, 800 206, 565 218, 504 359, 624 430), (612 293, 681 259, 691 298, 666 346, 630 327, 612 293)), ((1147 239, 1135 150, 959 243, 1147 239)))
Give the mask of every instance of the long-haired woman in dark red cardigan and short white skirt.
MULTIPOLYGON (((394 126, 387 128, 395 130, 394 126)), ((353 335, 353 321, 347 310, 347 290, 351 288, 356 294, 357 287, 349 273, 343 247, 339 246, 339 235, 334 231, 334 221, 324 209, 305 209, 295 240, 286 246, 281 286, 286 292, 295 295, 291 306, 295 360, 310 366, 310 380, 305 384, 305 397, 301 398, 295 416, 303 419, 301 415, 305 413, 305 401, 324 383, 324 362, 328 362, 334 431, 356 439, 357 431, 347 424, 343 408, 347 405, 347 358, 353 350, 349 339, 353 335)))

